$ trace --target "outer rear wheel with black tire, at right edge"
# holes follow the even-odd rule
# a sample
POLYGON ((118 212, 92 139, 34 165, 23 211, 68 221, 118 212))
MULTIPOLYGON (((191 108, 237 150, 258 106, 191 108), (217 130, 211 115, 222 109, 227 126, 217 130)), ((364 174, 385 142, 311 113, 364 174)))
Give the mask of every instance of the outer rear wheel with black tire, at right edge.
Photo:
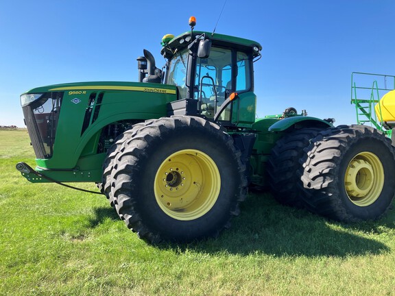
POLYGON ((394 199, 394 149, 372 127, 342 125, 320 133, 303 166, 304 201, 331 219, 379 219, 394 199))

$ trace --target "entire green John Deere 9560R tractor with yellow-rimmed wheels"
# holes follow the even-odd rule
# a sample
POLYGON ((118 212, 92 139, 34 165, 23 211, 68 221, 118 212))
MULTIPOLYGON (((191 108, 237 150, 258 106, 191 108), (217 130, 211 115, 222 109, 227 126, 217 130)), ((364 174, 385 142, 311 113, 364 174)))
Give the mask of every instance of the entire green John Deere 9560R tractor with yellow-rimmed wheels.
POLYGON ((338 221, 378 219, 395 192, 391 141, 288 108, 256 119, 258 42, 191 30, 144 50, 139 82, 80 82, 21 95, 33 183, 95 182, 148 243, 215 237, 248 188, 338 221))

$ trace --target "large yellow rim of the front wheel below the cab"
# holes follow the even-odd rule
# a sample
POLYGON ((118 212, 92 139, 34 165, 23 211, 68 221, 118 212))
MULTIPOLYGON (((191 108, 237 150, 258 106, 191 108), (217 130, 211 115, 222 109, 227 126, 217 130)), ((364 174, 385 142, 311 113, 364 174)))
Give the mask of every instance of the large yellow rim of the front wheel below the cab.
POLYGON ((171 154, 156 172, 154 193, 160 208, 174 219, 197 219, 213 208, 221 188, 215 162, 202 151, 171 154))

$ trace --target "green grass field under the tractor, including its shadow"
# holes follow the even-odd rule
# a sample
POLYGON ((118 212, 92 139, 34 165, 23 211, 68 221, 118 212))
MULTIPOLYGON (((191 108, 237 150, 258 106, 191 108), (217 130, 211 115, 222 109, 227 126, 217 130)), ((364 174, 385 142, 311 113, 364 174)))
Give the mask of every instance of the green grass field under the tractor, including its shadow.
POLYGON ((395 210, 345 225, 250 194, 216 240, 153 247, 104 196, 30 184, 19 161, 27 132, 0 131, 0 295, 395 295, 395 210))

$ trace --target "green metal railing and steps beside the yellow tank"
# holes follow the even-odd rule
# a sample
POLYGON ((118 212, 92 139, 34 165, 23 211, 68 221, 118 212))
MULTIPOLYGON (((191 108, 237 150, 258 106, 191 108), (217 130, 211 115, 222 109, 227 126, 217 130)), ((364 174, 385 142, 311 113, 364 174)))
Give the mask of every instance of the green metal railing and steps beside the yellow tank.
POLYGON ((353 72, 351 74, 351 103, 355 104, 357 124, 368 123, 390 136, 392 131, 386 130, 383 126, 380 104, 378 105, 379 114, 376 114, 374 106, 379 103, 385 93, 394 89, 395 76, 393 75, 353 72))

